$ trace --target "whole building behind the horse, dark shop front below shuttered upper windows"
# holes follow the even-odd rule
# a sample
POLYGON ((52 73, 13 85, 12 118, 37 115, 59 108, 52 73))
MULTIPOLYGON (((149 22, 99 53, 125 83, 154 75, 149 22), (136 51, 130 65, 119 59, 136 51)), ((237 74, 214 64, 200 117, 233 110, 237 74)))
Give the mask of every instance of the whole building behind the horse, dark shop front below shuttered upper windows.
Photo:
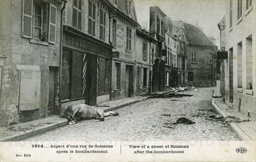
POLYGON ((64 10, 60 100, 95 105, 111 98, 113 6, 108 0, 70 0, 64 10))

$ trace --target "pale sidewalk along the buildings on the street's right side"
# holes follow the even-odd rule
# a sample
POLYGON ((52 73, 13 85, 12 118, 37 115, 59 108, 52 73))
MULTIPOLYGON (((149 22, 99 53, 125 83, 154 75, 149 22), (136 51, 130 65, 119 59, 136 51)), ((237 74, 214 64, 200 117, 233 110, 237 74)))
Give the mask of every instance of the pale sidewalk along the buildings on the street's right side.
POLYGON ((238 110, 233 107, 229 107, 222 98, 219 98, 220 90, 215 90, 212 98, 212 106, 223 116, 238 117, 241 121, 246 122, 229 122, 230 127, 240 136, 244 141, 256 140, 256 121, 247 117, 246 115, 239 113, 238 110), (249 119, 249 121, 247 121, 249 119))

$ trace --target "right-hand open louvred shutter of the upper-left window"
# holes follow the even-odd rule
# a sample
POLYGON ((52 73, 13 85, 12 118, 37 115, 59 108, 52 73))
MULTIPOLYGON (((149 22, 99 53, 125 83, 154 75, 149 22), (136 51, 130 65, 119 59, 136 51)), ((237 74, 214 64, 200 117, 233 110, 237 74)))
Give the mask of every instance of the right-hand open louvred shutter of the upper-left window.
POLYGON ((50 4, 48 42, 55 44, 57 7, 50 4))

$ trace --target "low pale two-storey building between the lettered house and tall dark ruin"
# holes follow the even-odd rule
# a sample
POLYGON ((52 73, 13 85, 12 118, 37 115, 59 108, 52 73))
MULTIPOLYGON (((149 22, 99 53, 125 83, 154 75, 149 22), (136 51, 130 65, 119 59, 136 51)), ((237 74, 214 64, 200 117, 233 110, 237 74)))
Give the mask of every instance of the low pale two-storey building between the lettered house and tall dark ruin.
POLYGON ((152 56, 155 54, 156 40, 150 32, 138 27, 136 30, 136 76, 135 93, 136 95, 151 93, 152 85, 152 56), (144 92, 145 91, 145 92, 144 92))

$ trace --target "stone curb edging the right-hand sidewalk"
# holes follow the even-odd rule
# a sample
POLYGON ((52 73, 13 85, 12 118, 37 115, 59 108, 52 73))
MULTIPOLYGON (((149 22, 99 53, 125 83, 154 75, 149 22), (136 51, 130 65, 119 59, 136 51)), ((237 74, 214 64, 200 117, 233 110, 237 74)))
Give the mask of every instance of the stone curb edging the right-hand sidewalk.
MULTIPOLYGON (((216 90, 215 90, 216 91, 216 90)), ((214 93, 215 93, 214 91, 214 93)), ((215 104, 215 98, 212 98, 212 106, 218 111, 218 113, 220 113, 223 117, 227 117, 228 115, 222 111, 217 104, 215 104)), ((241 130, 239 128, 239 126, 236 125, 236 123, 234 122, 228 122, 227 123, 231 128, 232 130, 243 140, 243 141, 252 141, 252 139, 247 136, 243 130, 241 130)))

